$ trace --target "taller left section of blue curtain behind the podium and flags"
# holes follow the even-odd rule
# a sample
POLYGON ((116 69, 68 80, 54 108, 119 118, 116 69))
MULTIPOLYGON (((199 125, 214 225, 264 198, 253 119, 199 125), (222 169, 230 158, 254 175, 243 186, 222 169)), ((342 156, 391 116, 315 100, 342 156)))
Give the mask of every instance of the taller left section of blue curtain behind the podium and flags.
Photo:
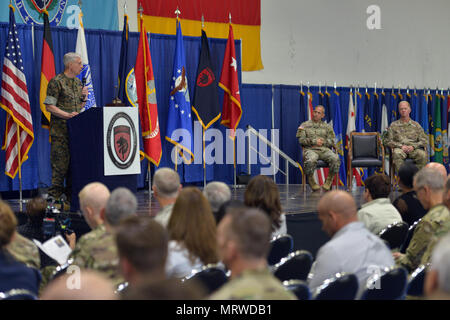
MULTIPOLYGON (((3 61, 8 24, 0 23, 0 54, 3 61)), ((50 144, 48 131, 40 127, 41 112, 39 108, 39 82, 41 72, 41 50, 43 28, 34 28, 34 39, 31 26, 18 24, 19 38, 22 44, 24 67, 27 78, 35 140, 29 152, 29 159, 22 166, 22 188, 32 190, 38 187, 48 187, 51 183, 50 169, 50 144)), ((86 30, 86 44, 88 48, 89 62, 91 65, 94 91, 99 106, 112 101, 117 86, 117 74, 119 67, 119 54, 121 45, 121 32, 105 30, 86 30)), ((55 56, 56 72, 63 71, 62 57, 66 52, 74 51, 77 30, 65 27, 52 27, 53 52, 55 56)), ((130 55, 136 56, 139 33, 130 32, 130 55)), ((169 86, 175 50, 175 36, 149 35, 150 50, 153 61, 155 86, 158 101, 158 115, 162 137, 165 134, 167 122, 167 110, 169 102, 169 86)), ((211 56, 215 68, 216 77, 220 77, 223 56, 226 47, 226 39, 209 39, 211 56)), ((185 50, 187 52, 187 78, 189 81, 190 96, 194 96, 195 76, 200 54, 200 37, 184 37, 185 50)), ((238 60, 238 74, 241 82, 241 58, 240 41, 236 41, 236 55, 238 60)), ((223 91, 219 89, 220 101, 223 99, 223 91)), ((242 94, 242 92, 241 92, 242 94)), ((242 94, 243 95, 243 94, 242 94)), ((244 95, 243 95, 244 96, 244 95)), ((247 116, 247 115, 246 115, 247 116)), ((3 141, 6 113, 0 112, 0 137, 3 141)), ((225 136, 225 128, 216 122, 214 128, 220 130, 225 136)), ((198 132, 201 142, 201 131, 198 132)), ((229 139, 228 139, 229 140, 229 139)), ((174 167, 170 159, 172 145, 162 140, 163 156, 160 166, 174 167)), ((201 157, 201 151, 199 152, 201 157)), ((225 155, 225 147, 223 148, 225 155)), ((225 161, 225 159, 224 159, 225 161)), ((146 179, 147 161, 142 161, 143 174, 139 177, 138 187, 143 187, 146 179)), ((0 172, 4 172, 5 153, 0 151, 0 172)), ((191 166, 179 165, 178 172, 185 183, 203 181, 203 165, 191 166)), ((152 166, 152 172, 154 168, 152 166)), ((207 166, 207 179, 233 181, 233 165, 207 166)), ((0 191, 12 191, 19 189, 19 179, 11 180, 0 173, 0 191)))

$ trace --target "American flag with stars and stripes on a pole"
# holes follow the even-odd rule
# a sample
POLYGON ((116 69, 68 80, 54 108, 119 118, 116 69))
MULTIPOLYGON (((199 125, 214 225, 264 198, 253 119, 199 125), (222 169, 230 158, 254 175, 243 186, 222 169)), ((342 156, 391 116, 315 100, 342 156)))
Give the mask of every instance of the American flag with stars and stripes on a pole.
POLYGON ((11 5, 9 7, 9 29, 3 59, 0 106, 7 112, 5 140, 2 148, 6 150, 5 174, 14 179, 19 166, 28 158, 34 134, 14 8, 11 5))

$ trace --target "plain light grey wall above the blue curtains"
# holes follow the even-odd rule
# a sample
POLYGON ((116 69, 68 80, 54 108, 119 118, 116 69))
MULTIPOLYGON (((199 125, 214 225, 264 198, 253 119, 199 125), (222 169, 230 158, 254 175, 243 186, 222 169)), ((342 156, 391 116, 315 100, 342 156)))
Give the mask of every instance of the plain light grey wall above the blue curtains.
MULTIPOLYGON (((136 1, 127 4, 136 31, 136 1)), ((242 81, 447 88, 449 14, 449 0, 261 0, 264 69, 242 81), (370 5, 380 8, 379 30, 367 28, 370 5)))

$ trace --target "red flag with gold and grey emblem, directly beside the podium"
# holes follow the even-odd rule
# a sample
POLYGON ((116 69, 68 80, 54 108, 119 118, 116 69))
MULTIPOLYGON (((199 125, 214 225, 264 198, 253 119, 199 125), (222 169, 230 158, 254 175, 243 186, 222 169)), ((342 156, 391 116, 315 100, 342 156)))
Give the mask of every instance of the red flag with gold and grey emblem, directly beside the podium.
POLYGON ((141 21, 141 35, 134 67, 139 116, 141 118, 144 152, 141 155, 159 166, 161 161, 161 136, 156 105, 155 78, 153 77, 152 58, 148 46, 147 33, 141 21))

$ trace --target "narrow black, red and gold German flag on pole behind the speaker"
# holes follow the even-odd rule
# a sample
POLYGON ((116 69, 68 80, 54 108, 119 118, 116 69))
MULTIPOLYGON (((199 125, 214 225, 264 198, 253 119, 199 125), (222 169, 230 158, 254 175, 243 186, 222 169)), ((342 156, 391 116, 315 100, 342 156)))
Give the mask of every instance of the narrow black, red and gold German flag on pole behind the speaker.
POLYGON ((41 106, 42 116, 41 125, 43 128, 50 129, 50 113, 44 104, 47 97, 47 86, 50 80, 55 76, 55 57, 53 56, 52 33, 48 21, 48 12, 44 13, 44 37, 42 40, 42 59, 41 59, 41 86, 39 91, 39 105, 41 106))

